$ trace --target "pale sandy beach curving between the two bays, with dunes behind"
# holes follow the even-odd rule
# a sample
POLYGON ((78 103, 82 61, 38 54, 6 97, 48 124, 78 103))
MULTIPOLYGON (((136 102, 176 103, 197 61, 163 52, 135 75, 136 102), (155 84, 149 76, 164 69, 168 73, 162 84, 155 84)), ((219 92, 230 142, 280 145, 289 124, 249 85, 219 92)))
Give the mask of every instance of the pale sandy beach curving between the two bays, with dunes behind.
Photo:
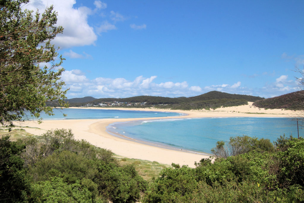
MULTIPOLYGON (((252 102, 248 105, 238 107, 224 107, 215 110, 168 110, 168 109, 148 109, 148 108, 100 108, 90 107, 91 109, 120 109, 120 110, 145 110, 145 111, 170 111, 187 114, 178 118, 195 118, 195 117, 296 117, 300 112, 281 109, 263 109, 252 106, 252 102)), ((77 107, 73 107, 77 108, 77 107)), ((112 136, 106 131, 106 127, 114 122, 126 122, 135 120, 151 120, 151 119, 168 119, 170 117, 158 118, 123 118, 123 119, 88 119, 88 120, 44 120, 38 124, 37 121, 25 121, 16 123, 17 126, 29 126, 35 128, 23 128, 34 135, 41 135, 47 130, 55 128, 72 129, 76 139, 85 139, 91 144, 109 149, 115 154, 127 158, 144 159, 149 161, 157 161, 159 163, 171 164, 178 163, 180 165, 188 165, 194 167, 194 162, 199 162, 202 158, 209 155, 201 155, 185 152, 184 150, 170 150, 134 142, 131 139, 126 140, 116 136, 112 136)), ((176 117, 174 117, 176 118, 176 117)))

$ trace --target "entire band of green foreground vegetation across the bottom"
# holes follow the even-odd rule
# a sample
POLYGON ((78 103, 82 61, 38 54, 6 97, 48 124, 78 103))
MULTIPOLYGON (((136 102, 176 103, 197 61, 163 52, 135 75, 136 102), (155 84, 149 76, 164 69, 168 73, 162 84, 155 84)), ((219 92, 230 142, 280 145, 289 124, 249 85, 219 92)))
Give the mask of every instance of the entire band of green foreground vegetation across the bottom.
POLYGON ((218 142, 219 156, 171 167, 74 139, 70 130, 0 139, 1 202, 302 202, 304 139, 218 142), (222 157, 222 158, 221 158, 222 157), (152 168, 149 170, 149 168, 152 168), (143 176, 143 177, 141 177, 143 176))

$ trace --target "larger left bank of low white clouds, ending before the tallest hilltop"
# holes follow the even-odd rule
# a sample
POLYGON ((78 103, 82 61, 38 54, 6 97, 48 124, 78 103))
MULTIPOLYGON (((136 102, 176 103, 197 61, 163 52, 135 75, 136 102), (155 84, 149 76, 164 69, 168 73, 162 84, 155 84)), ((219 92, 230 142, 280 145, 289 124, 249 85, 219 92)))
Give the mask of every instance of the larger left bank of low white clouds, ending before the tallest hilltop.
POLYGON ((102 78, 88 79, 81 70, 75 69, 65 71, 61 79, 65 81, 66 88, 70 88, 68 98, 94 96, 97 98, 114 97, 124 98, 130 96, 151 95, 151 96, 196 96, 202 93, 199 86, 188 86, 184 82, 161 82, 154 80, 157 76, 145 78, 138 76, 134 80, 124 78, 102 78))

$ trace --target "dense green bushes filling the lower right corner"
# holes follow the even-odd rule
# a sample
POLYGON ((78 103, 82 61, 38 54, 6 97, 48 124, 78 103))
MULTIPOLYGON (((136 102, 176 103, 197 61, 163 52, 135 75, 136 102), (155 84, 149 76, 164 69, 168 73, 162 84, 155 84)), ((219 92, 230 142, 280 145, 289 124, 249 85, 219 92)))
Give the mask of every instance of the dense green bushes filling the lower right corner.
POLYGON ((202 159, 195 169, 172 164, 154 180, 143 202, 303 202, 304 139, 281 137, 275 145, 275 151, 249 145, 249 152, 214 163, 202 159))

